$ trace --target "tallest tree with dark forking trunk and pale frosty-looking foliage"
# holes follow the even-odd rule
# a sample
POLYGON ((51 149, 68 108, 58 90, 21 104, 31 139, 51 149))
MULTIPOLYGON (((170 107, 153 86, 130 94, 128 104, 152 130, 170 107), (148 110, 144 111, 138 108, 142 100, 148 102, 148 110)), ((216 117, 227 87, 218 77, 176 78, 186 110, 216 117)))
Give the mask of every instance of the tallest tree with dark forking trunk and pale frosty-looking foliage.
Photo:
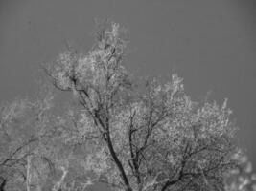
POLYGON ((223 190, 238 151, 226 100, 192 101, 177 74, 138 86, 123 65, 122 36, 112 23, 96 32, 89 53, 68 48, 45 66, 54 86, 79 103, 66 138, 86 145, 90 181, 126 191, 223 190))

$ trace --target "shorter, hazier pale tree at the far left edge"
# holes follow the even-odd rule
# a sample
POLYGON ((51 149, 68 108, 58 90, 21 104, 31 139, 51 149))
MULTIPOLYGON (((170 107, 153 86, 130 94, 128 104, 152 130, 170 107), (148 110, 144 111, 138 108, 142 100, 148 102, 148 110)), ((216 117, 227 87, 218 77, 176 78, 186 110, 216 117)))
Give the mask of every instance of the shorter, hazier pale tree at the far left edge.
MULTIPOLYGON (((36 101, 16 99, 3 104, 0 113, 0 190, 31 190, 38 161, 48 164, 42 141, 47 138, 51 95, 36 101), (37 165, 35 166, 35 163, 37 165)), ((37 186, 37 185, 36 185, 37 186)))

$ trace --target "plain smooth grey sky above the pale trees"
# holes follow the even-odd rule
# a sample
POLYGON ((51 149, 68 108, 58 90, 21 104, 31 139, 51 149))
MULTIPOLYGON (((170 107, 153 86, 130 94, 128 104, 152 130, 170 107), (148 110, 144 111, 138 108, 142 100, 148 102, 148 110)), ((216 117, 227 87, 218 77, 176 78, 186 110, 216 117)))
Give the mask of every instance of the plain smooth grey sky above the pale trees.
POLYGON ((184 78, 194 100, 228 98, 256 168, 256 1, 0 0, 0 102, 35 96, 39 64, 65 48, 84 52, 95 18, 128 30, 135 75, 184 78))

